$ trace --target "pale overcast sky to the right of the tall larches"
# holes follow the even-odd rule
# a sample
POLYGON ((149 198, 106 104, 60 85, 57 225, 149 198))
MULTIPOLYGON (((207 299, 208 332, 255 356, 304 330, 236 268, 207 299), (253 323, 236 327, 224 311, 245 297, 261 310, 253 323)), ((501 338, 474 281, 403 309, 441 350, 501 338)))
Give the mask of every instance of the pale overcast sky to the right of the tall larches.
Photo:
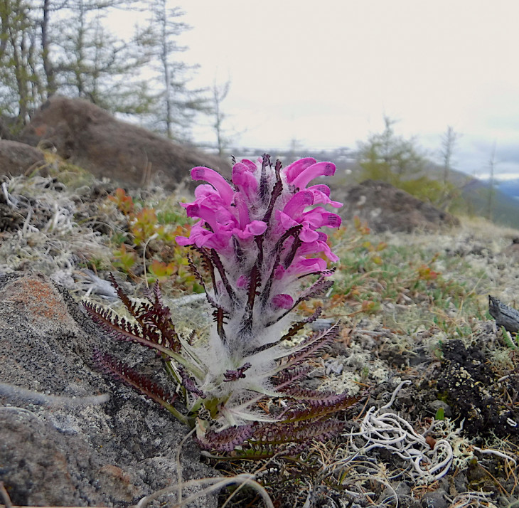
MULTIPOLYGON (((437 157, 451 125, 455 166, 519 176, 519 1, 179 0, 193 85, 230 80, 234 144, 357 146, 399 120, 437 157)), ((196 129, 196 142, 214 133, 196 129)))

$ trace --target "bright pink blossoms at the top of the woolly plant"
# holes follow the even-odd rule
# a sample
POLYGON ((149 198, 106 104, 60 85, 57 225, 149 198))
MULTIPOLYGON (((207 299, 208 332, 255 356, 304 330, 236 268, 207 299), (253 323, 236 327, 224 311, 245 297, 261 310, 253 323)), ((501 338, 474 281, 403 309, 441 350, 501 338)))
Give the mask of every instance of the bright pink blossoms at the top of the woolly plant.
MULTIPOLYGON (((321 257, 336 261, 323 226, 338 228, 341 217, 327 211, 323 205, 335 208, 342 203, 330 199, 330 189, 324 184, 309 186, 319 176, 331 176, 336 166, 331 162, 316 162, 310 157, 299 159, 286 168, 275 167, 268 156, 257 164, 247 159, 232 167, 232 184, 217 171, 196 167, 193 180, 206 181, 195 191, 193 203, 183 203, 189 217, 200 220, 191 229, 189 238, 178 236, 180 245, 196 245, 214 250, 227 265, 242 264, 240 275, 233 277, 233 285, 245 287, 247 278, 262 248, 263 275, 281 280, 326 270, 321 257), (294 229, 295 227, 295 229, 294 229), (293 231, 287 235, 287 231, 293 231), (258 238, 262 238, 258 243, 258 238), (279 250, 279 241, 282 249, 279 250), (296 245, 294 246, 294 243, 296 245), (245 258, 245 266, 243 266, 245 258), (247 254, 250 254, 247 256, 247 254)), ((272 298, 276 307, 290 308, 293 299, 287 294, 272 298)))

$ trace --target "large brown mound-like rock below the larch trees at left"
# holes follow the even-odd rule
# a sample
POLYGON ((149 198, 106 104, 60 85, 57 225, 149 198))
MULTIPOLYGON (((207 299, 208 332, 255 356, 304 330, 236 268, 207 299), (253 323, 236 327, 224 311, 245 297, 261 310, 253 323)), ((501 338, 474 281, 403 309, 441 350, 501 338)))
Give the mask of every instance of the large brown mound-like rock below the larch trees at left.
POLYGON ((191 181, 193 166, 230 174, 230 165, 220 157, 121 122, 82 99, 51 97, 23 129, 20 139, 33 146, 43 142, 97 178, 107 176, 127 186, 156 183, 173 190, 191 181))

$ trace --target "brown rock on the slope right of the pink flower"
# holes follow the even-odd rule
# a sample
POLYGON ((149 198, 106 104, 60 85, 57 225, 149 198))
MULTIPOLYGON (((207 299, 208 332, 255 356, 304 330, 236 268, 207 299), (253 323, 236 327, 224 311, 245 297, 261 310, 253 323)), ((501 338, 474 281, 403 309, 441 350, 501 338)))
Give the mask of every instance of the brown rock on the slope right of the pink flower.
POLYGON ((459 224, 459 220, 450 213, 424 203, 384 181, 366 180, 349 186, 343 195, 334 199, 344 203, 338 212, 343 218, 351 220, 358 216, 378 233, 438 231, 442 227, 459 224))

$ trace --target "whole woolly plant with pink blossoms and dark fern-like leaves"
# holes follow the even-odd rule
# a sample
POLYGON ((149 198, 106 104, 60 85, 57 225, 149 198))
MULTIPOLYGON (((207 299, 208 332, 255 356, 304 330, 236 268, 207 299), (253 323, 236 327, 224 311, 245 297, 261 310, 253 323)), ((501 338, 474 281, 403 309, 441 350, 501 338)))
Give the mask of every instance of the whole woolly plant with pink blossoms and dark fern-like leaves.
POLYGON ((187 215, 198 218, 180 245, 199 253, 211 288, 189 258, 191 269, 205 288, 213 307, 215 326, 208 342, 180 337, 165 307, 158 285, 149 303, 134 304, 116 287, 135 324, 85 304, 87 312, 112 337, 156 349, 166 369, 182 389, 187 412, 173 406, 177 396, 144 379, 109 354, 100 363, 117 377, 144 391, 179 420, 197 425, 200 445, 228 451, 258 443, 279 448, 308 443, 337 432, 342 423, 329 418, 355 402, 346 394, 301 388, 309 373, 304 362, 333 342, 338 324, 312 334, 293 346, 294 337, 313 322, 291 322, 289 312, 304 300, 326 292, 333 282, 326 260, 338 258, 320 228, 337 228, 341 218, 323 205, 339 207, 323 184, 309 186, 335 171, 330 162, 300 159, 286 168, 264 155, 258 163, 243 159, 232 167, 232 183, 213 169, 196 167, 193 180, 205 181, 195 201, 184 203, 187 215), (304 277, 313 282, 301 290, 304 277), (269 401, 280 400, 280 405, 269 401))

